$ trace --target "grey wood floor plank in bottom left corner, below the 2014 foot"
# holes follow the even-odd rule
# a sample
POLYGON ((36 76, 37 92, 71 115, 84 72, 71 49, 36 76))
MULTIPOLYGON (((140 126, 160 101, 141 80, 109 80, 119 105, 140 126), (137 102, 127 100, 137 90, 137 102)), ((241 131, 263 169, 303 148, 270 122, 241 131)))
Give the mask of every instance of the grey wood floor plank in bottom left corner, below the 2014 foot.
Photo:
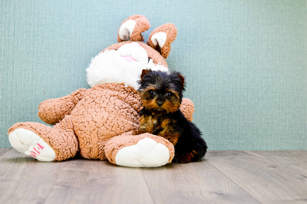
POLYGON ((9 150, 0 157, 0 203, 43 203, 64 164, 9 150))

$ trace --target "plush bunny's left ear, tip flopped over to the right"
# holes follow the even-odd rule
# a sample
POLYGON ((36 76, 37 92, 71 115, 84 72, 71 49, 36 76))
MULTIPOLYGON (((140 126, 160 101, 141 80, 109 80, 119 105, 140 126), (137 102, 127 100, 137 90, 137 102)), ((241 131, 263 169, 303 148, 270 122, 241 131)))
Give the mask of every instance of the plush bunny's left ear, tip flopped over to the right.
POLYGON ((121 27, 118 29, 117 41, 144 41, 141 34, 149 28, 150 24, 145 16, 138 14, 130 16, 122 22, 121 27))

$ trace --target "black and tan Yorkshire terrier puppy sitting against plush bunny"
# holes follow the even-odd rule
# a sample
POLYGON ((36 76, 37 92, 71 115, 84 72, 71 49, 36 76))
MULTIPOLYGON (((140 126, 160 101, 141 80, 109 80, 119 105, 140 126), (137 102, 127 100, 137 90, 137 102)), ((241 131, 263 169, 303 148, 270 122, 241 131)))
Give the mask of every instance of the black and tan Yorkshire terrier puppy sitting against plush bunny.
POLYGON ((206 142, 179 109, 185 91, 185 78, 180 72, 143 69, 138 83, 143 108, 139 112, 140 125, 133 134, 148 132, 168 139, 175 147, 173 162, 196 162, 203 157, 206 142))

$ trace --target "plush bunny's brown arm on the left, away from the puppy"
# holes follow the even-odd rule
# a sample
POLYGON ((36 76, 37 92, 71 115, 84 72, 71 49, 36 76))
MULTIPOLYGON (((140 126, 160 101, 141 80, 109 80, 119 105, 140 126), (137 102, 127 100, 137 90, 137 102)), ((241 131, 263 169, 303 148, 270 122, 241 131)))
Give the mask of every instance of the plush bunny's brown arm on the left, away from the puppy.
POLYGON ((64 97, 45 100, 39 104, 37 115, 42 121, 55 125, 65 115, 70 114, 76 104, 83 98, 86 91, 87 89, 82 88, 64 97))

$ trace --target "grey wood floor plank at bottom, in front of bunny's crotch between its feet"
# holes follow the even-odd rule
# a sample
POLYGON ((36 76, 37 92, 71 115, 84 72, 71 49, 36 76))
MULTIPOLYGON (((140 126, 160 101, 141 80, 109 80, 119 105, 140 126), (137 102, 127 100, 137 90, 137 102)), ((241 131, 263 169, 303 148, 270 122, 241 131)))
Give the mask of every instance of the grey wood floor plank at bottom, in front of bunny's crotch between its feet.
POLYGON ((80 158, 62 170, 45 203, 153 203, 153 200, 140 168, 80 158))

